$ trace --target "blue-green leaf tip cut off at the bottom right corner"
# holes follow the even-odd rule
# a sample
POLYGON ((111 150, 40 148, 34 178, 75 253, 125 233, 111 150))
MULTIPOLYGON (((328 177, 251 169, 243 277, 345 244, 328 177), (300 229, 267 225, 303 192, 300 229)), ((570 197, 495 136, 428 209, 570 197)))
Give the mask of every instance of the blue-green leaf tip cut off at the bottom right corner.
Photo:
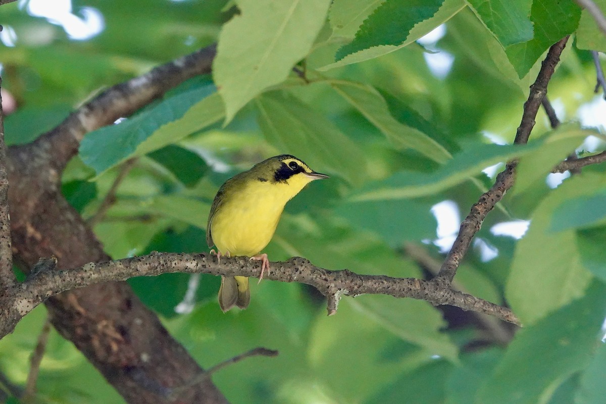
POLYGON ((581 373, 581 386, 575 404, 601 404, 606 397, 606 344, 600 343, 589 366, 581 373))

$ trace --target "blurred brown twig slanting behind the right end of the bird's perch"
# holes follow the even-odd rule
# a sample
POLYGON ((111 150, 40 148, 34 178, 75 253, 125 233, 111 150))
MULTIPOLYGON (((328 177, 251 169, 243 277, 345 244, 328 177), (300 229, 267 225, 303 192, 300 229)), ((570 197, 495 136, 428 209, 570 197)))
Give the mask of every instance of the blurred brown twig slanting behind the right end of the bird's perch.
MULTIPOLYGON (((442 263, 438 259, 432 257, 427 250, 425 250, 425 248, 421 247, 420 245, 416 245, 415 243, 406 243, 404 245, 404 250, 408 256, 418 262, 419 265, 422 265, 422 267, 430 271, 433 276, 436 276, 439 273, 442 263)), ((458 290, 462 293, 468 293, 468 291, 465 290, 465 288, 456 280, 453 280, 452 286, 454 290, 458 290)), ((494 342, 505 345, 511 341, 511 338, 513 338, 512 330, 504 326, 495 317, 488 316, 487 314, 477 313, 475 311, 472 311, 471 313, 482 324, 494 342)))

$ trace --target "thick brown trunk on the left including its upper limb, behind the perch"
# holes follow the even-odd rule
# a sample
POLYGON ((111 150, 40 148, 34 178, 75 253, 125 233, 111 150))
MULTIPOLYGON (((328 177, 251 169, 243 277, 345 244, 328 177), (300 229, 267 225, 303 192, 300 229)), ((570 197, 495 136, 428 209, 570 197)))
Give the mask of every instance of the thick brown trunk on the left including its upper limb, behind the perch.
MULTIPOLYGON (((116 85, 38 141, 8 149, 12 247, 20 268, 27 271, 39 257, 56 256, 59 269, 110 259, 61 194, 65 162, 76 153, 86 131, 127 116, 185 79, 208 73, 214 55, 214 47, 205 48, 116 85)), ((24 290, 25 284, 19 283, 13 293, 24 290)), ((66 291, 45 304, 59 334, 70 340, 128 403, 171 404, 158 391, 181 386, 192 374, 203 372, 125 282, 66 291)), ((7 315, 0 306, 0 317, 7 315)), ((227 403, 210 379, 185 389, 180 399, 227 403)))

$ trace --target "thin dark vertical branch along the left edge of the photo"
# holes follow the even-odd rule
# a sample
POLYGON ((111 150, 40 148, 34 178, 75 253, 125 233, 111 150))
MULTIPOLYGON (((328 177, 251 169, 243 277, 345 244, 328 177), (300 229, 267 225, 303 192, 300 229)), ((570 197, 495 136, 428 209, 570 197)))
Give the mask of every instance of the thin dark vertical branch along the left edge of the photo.
MULTIPOLYGON (((0 87, 2 78, 0 78, 0 87)), ((0 301, 15 285, 13 274, 13 252, 10 238, 10 215, 8 214, 8 173, 6 169, 6 146, 4 144, 4 112, 0 95, 0 301)))

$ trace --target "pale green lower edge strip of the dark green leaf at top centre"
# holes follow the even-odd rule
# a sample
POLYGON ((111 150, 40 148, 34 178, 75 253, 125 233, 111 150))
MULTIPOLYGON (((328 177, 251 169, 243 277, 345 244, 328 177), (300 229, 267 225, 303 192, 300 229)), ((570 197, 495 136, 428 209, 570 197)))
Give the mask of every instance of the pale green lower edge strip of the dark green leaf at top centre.
POLYGON ((467 3, 464 0, 444 0, 444 4, 442 4, 442 7, 439 8, 438 12, 436 12, 433 17, 425 19, 425 21, 416 24, 415 27, 410 30, 406 40, 401 44, 381 45, 364 49, 356 53, 352 53, 351 55, 347 55, 338 62, 322 66, 318 68, 318 70, 326 71, 332 68, 359 63, 367 61, 368 59, 374 59, 378 58, 379 56, 387 55, 387 53, 391 53, 405 47, 427 33, 430 33, 432 30, 438 27, 438 25, 444 24, 444 22, 448 21, 450 18, 452 18, 452 16, 465 8, 466 5, 467 3))

